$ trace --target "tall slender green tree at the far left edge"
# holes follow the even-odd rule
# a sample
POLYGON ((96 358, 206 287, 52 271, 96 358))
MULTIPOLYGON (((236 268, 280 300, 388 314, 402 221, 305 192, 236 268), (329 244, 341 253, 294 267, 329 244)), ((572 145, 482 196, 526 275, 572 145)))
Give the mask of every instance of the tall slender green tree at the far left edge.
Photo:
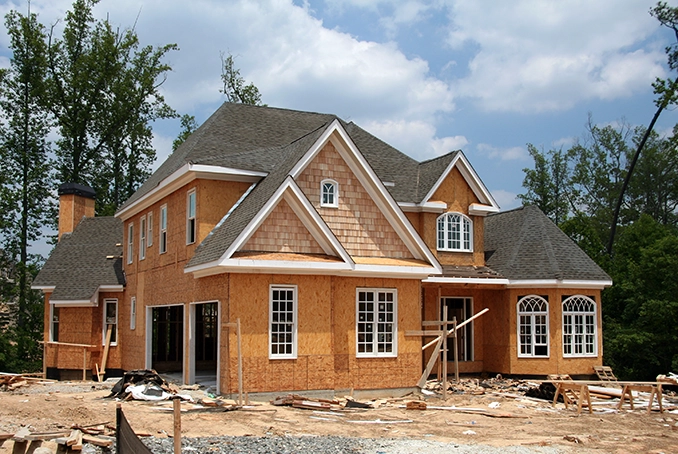
MULTIPOLYGON (((41 350, 36 341, 42 334, 42 298, 30 288, 37 273, 38 258, 29 254, 32 242, 42 236, 49 213, 50 119, 45 108, 45 33, 35 14, 23 16, 10 11, 5 17, 12 58, 0 83, 0 171, 4 224, 2 239, 10 270, 4 293, 12 301, 13 357, 5 358, 15 370, 39 365, 41 350), (9 263, 12 266, 9 266, 9 263)), ((5 355, 8 356, 8 355, 5 355)))

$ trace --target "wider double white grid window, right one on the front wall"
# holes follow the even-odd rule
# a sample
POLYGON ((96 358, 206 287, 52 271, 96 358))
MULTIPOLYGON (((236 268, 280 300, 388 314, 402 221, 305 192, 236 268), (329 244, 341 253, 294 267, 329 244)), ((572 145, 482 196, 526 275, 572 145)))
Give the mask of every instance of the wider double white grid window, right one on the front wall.
MULTIPOLYGON (((396 357, 398 357, 398 289, 395 289, 395 288, 362 288, 362 287, 357 287, 356 288, 356 294, 355 294, 355 301, 356 301, 356 306, 355 306, 355 310, 356 310, 356 312, 355 312, 355 314, 356 314, 356 318, 355 318, 355 323, 356 323, 355 324, 355 335, 356 335, 355 352, 356 352, 356 357, 357 358, 396 358, 396 357), (367 299, 364 300, 364 301, 361 301, 361 299, 360 299, 361 293, 365 293, 366 295, 372 294, 373 295, 372 301, 369 301, 367 299), (379 303, 380 303, 379 294, 380 293, 383 293, 384 295, 392 295, 392 300, 390 301, 393 304, 393 310, 390 311, 392 313, 392 321, 391 322, 389 322, 387 320, 388 317, 386 317, 385 321, 383 321, 383 322, 380 321, 380 318, 379 318, 379 313, 381 312, 381 311, 379 311, 379 303), (360 305, 361 305, 361 303, 367 304, 369 302, 374 303, 374 307, 371 311, 372 315, 373 315, 372 321, 367 320, 367 319, 361 320, 361 312, 368 315, 370 311, 368 311, 368 310, 361 311, 360 305), (391 325, 391 330, 390 330, 391 340, 390 341, 384 340, 383 342, 379 342, 379 334, 380 334, 379 329, 380 329, 380 327, 378 325, 380 323, 384 323, 384 324, 390 323, 390 325, 391 325), (361 327, 360 327, 361 324, 365 324, 365 325, 372 324, 371 331, 369 331, 367 329, 361 330, 361 327), (377 326, 374 326, 374 325, 377 325, 377 326), (367 340, 365 340, 365 337, 363 337, 362 340, 361 340, 361 335, 367 335, 367 334, 372 334, 372 340, 367 341, 367 340), (390 344, 391 345, 391 351, 380 352, 379 351, 379 344, 380 343, 384 344, 384 345, 390 344), (362 351, 361 352, 360 351, 361 345, 364 345, 364 346, 371 345, 372 351, 362 351)), ((388 298, 386 298, 383 302, 389 303, 388 298)), ((389 313, 388 310, 385 310, 383 312, 384 312, 384 314, 389 313)), ((383 334, 384 335, 388 334, 388 331, 383 331, 383 334)))

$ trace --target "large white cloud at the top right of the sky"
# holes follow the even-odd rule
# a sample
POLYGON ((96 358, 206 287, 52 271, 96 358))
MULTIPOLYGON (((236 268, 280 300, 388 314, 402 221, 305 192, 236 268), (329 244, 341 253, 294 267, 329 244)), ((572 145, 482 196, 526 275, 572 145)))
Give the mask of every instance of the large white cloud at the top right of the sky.
POLYGON ((479 50, 460 93, 490 111, 565 110, 578 102, 649 91, 663 76, 654 0, 458 0, 448 43, 479 50))

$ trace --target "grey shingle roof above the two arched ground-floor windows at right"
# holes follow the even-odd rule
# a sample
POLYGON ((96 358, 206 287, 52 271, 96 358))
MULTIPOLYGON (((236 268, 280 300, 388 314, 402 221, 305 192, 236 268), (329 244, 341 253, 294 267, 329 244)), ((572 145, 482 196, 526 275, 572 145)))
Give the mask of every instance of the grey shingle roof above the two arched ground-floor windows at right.
POLYGON ((535 206, 485 218, 486 264, 510 281, 612 280, 586 253, 535 206))

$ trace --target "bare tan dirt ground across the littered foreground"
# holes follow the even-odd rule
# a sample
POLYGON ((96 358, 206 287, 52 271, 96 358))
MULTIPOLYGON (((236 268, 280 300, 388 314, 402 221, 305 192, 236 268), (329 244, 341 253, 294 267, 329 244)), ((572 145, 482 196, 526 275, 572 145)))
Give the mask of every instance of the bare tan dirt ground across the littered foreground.
MULTIPOLYGON (((29 426, 32 432, 46 432, 73 424, 115 424, 116 401, 105 399, 109 391, 103 388, 98 383, 81 382, 70 387, 60 385, 57 391, 51 385, 32 384, 13 392, 0 392, 0 433, 13 433, 21 426, 29 426)), ((454 394, 446 401, 426 397, 429 407, 479 408, 495 417, 448 409, 407 410, 400 406, 414 399, 404 399, 382 399, 375 409, 333 409, 329 413, 255 401, 250 407, 229 412, 195 410, 194 405, 184 403, 181 432, 183 437, 313 434, 406 437, 495 447, 551 446, 565 452, 678 452, 678 410, 671 410, 678 408, 672 403, 678 401, 671 399, 665 399, 669 411, 663 414, 647 414, 646 408, 638 407, 632 411, 628 404, 621 412, 613 412, 611 408, 617 401, 611 400, 594 404, 596 411, 592 415, 577 415, 571 406, 567 410, 563 404, 554 408, 546 401, 508 397, 491 390, 484 395, 454 394)), ((122 405, 137 433, 172 435, 171 402, 127 401, 122 405)), ((0 443, 0 454, 13 452, 11 440, 0 443)))

